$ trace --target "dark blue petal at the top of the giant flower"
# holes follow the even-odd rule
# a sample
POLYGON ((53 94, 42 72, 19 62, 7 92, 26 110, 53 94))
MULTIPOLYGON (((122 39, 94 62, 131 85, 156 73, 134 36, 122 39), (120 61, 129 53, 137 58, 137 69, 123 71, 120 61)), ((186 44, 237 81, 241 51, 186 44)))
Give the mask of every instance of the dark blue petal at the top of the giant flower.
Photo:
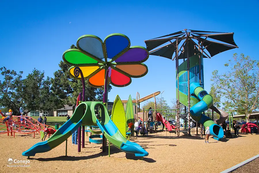
POLYGON ((115 58, 117 55, 129 49, 130 41, 126 35, 114 33, 108 35, 104 39, 104 48, 109 59, 115 58))

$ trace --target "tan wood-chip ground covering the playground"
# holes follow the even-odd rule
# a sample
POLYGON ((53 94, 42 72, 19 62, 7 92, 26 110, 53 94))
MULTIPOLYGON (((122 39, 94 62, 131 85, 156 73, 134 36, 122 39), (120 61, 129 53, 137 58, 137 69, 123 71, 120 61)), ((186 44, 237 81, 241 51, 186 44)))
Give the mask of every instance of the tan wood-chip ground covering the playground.
POLYGON ((9 158, 25 160, 22 152, 40 142, 39 135, 18 135, 12 138, 0 135, 2 172, 221 172, 259 153, 259 136, 240 133, 239 138, 224 139, 224 142, 210 138, 210 144, 204 138, 196 136, 174 137, 174 133, 153 133, 145 137, 132 137, 140 144, 148 157, 143 160, 132 154, 126 154, 111 146, 111 157, 102 153, 102 144, 89 144, 86 137, 85 147, 77 153, 77 146, 68 138, 68 157, 65 157, 65 142, 47 153, 38 153, 31 157, 30 167, 7 167, 9 158), (234 154, 237 153, 237 156, 234 154), (34 159, 35 158, 35 159, 34 159))

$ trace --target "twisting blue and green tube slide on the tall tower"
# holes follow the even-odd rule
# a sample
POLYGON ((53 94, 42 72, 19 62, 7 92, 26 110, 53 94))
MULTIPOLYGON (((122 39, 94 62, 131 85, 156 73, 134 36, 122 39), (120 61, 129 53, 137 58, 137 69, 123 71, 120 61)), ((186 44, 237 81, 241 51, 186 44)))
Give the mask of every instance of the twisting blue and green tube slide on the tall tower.
POLYGON ((216 140, 220 140, 224 136, 222 127, 217 125, 212 119, 204 114, 201 114, 205 110, 212 107, 213 98, 207 93, 198 83, 191 83, 190 85, 191 95, 195 95, 200 101, 191 107, 190 113, 192 119, 203 124, 204 127, 210 127, 210 134, 216 140))

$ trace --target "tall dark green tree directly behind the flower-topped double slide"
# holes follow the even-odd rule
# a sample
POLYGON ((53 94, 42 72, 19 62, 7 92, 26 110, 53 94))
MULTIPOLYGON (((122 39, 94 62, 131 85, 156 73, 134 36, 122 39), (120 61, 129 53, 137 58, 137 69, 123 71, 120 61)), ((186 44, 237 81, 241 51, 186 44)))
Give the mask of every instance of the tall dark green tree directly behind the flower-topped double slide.
MULTIPOLYGON (((77 48, 75 45, 70 47, 77 48)), ((54 78, 51 78, 52 90, 55 95, 58 96, 58 107, 62 108, 64 104, 70 106, 75 105, 77 101, 77 96, 82 92, 82 82, 71 78, 69 76, 68 69, 70 65, 66 64, 64 61, 59 63, 60 69, 54 72, 54 78)), ((109 85, 108 92, 111 91, 112 87, 109 85)), ((95 88, 85 81, 85 100, 86 101, 102 101, 103 98, 103 88, 95 88)))

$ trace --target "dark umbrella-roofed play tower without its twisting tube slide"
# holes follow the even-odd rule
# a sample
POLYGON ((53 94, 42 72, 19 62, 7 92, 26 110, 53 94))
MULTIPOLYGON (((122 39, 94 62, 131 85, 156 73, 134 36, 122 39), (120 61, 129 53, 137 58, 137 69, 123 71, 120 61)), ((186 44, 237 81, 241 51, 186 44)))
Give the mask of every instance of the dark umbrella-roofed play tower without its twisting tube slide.
MULTIPOLYGON (((201 102, 203 98, 198 97, 200 96, 197 95, 199 93, 196 93, 196 95, 195 93, 191 93, 190 89, 190 84, 192 83, 193 86, 201 86, 201 88, 204 86, 203 58, 211 58, 226 50, 238 48, 234 42, 233 35, 234 33, 184 29, 145 41, 146 48, 150 55, 176 60, 178 135, 180 128, 180 104, 188 107, 188 132, 190 134, 191 107, 201 102), (180 65, 179 59, 183 60, 180 65)), ((207 106, 211 106, 211 101, 207 103, 209 103, 207 106)), ((204 105, 204 109, 205 108, 206 104, 204 105)), ((193 119, 195 119, 195 117, 193 117, 193 119)))

